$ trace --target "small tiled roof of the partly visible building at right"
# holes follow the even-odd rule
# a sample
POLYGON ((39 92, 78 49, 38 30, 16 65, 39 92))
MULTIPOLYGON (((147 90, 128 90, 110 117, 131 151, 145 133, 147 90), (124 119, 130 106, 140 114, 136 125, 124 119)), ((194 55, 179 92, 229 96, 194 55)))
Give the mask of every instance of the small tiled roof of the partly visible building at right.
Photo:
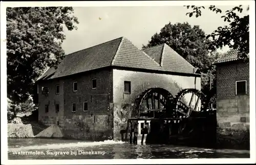
POLYGON ((238 48, 230 49, 229 51, 224 53, 222 57, 220 57, 218 60, 216 60, 214 62, 214 64, 220 64, 220 63, 226 63, 226 62, 230 62, 230 61, 241 60, 241 58, 239 58, 238 55, 239 55, 238 48))

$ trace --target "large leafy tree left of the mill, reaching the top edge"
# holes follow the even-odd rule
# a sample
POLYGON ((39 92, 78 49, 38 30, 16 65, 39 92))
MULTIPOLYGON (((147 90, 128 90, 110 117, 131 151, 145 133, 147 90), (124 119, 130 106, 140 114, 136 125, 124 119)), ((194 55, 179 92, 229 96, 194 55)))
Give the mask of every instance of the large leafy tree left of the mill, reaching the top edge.
POLYGON ((7 8, 7 92, 13 104, 26 101, 46 67, 56 67, 65 52, 63 26, 79 23, 72 7, 7 8))

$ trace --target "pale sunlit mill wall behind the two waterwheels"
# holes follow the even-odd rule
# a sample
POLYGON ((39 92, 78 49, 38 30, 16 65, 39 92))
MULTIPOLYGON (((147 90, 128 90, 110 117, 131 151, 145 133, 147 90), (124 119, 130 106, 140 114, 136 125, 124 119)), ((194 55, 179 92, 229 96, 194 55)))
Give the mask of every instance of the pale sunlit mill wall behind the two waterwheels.
POLYGON ((121 138, 120 130, 126 128, 135 99, 150 88, 163 88, 175 96, 185 88, 201 90, 201 77, 196 77, 195 85, 195 77, 192 76, 113 69, 114 139, 121 138), (124 93, 124 81, 131 81, 131 94, 124 93))

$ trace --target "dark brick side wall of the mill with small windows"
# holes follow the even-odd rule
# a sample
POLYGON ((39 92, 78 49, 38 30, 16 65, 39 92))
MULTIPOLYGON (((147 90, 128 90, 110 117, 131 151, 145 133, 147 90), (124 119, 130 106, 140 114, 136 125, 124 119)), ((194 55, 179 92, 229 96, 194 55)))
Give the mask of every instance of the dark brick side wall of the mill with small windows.
POLYGON ((52 79, 39 84, 39 121, 46 125, 57 124, 63 127, 65 136, 85 139, 97 139, 113 136, 110 105, 113 102, 112 71, 102 69, 76 74, 61 79, 52 79), (97 79, 97 88, 92 89, 92 78, 97 79), (73 91, 73 82, 77 82, 77 91, 73 91), (55 86, 60 86, 55 94, 55 86), (41 87, 49 88, 48 96, 41 94, 41 87), (45 104, 49 104, 49 113, 45 113, 45 104), (72 102, 76 103, 76 112, 71 112, 72 102), (83 112, 83 102, 88 102, 88 112, 83 112), (59 103, 59 113, 54 103, 59 103))

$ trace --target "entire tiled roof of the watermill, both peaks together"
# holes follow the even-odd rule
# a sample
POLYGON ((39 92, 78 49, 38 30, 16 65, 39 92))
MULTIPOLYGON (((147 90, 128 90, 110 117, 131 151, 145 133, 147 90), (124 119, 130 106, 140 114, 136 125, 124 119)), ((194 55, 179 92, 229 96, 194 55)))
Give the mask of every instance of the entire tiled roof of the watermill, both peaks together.
POLYGON ((37 80, 53 79, 108 66, 194 73, 194 67, 166 44, 142 51, 131 41, 121 37, 66 55, 57 69, 48 69, 37 80))

